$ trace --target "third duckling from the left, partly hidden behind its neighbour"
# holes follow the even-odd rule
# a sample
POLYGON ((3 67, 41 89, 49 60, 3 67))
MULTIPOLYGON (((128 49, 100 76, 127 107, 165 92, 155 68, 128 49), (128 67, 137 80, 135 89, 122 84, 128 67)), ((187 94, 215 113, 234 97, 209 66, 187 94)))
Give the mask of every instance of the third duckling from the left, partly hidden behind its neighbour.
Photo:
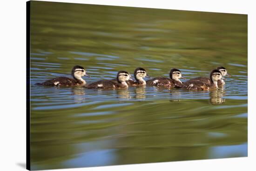
POLYGON ((147 72, 144 68, 138 67, 135 69, 134 71, 134 77, 136 79, 136 81, 134 80, 128 80, 127 84, 128 85, 132 85, 132 86, 136 86, 136 85, 146 85, 146 81, 143 78, 150 78, 147 75, 147 72))

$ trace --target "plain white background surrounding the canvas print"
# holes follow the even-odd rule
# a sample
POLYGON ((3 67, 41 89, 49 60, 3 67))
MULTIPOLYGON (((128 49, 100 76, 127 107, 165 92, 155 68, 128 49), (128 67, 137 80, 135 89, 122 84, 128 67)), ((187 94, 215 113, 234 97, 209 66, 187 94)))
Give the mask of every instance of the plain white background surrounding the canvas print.
MULTIPOLYGON (((46 0, 48 1, 48 0, 46 0)), ((180 9, 248 15, 248 158, 130 164, 61 171, 255 171, 256 169, 256 5, 254 0, 51 0, 61 2, 180 9)), ((25 170, 26 163, 26 0, 0 2, 0 171, 25 170)), ((157 158, 157 156, 156 156, 157 158)), ((59 171, 59 170, 54 170, 59 171)))

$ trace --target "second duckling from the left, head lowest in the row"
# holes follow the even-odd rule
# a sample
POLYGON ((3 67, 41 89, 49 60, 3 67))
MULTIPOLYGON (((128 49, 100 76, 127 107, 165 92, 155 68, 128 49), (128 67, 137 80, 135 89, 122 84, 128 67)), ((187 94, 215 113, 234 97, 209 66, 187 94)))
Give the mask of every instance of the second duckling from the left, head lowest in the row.
POLYGON ((110 88, 127 88, 128 84, 126 81, 132 80, 131 76, 126 71, 119 71, 115 79, 111 80, 100 80, 94 83, 87 85, 87 88, 101 88, 101 89, 110 89, 110 88), (116 81, 117 80, 117 81, 116 81))

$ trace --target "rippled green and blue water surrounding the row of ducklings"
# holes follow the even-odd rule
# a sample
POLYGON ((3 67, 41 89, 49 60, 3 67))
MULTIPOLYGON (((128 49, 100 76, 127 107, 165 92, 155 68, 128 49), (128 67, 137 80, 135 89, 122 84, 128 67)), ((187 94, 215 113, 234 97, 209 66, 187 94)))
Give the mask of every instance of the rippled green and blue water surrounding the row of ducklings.
POLYGON ((39 1, 31 14, 31 169, 247 156, 247 15, 39 1), (75 65, 87 83, 138 66, 232 77, 205 92, 34 85, 75 65))

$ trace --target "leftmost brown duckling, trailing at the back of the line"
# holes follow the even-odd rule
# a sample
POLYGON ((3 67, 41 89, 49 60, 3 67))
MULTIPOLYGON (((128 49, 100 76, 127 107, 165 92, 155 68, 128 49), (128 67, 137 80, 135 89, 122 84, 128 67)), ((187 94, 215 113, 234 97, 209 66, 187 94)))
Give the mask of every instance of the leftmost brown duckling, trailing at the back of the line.
POLYGON ((49 86, 83 86, 86 85, 86 81, 82 79, 83 76, 90 77, 86 74, 85 69, 82 66, 74 66, 71 75, 73 79, 68 77, 57 77, 49 79, 43 83, 36 83, 36 85, 49 85, 49 86))

